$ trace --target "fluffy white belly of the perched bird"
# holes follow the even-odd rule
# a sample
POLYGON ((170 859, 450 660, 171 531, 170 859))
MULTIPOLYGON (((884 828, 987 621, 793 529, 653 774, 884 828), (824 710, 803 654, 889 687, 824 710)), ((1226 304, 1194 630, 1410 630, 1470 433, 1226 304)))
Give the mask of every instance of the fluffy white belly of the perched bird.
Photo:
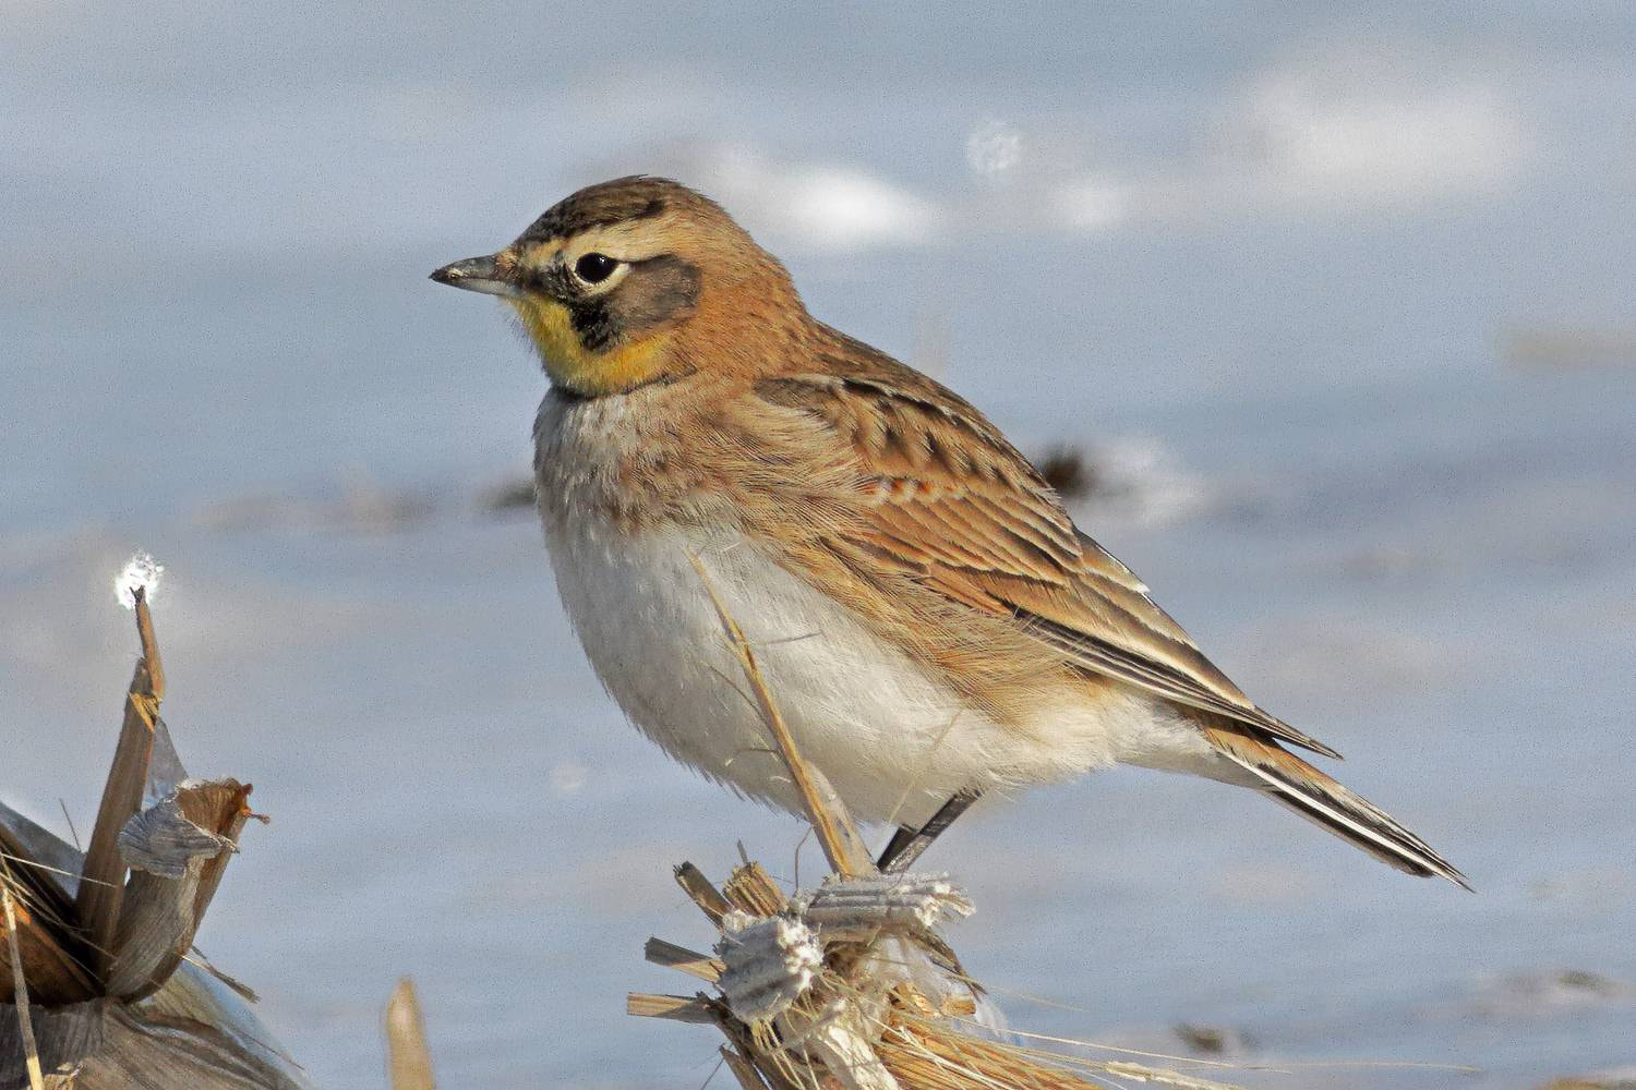
POLYGON ((558 590, 609 693, 671 755, 751 797, 798 811, 690 554, 754 646, 802 753, 862 820, 919 824, 962 788, 1186 763, 1202 747, 1134 690, 1094 704, 1065 693, 1042 722, 1001 726, 736 534, 628 538, 594 516, 553 521, 558 590))

